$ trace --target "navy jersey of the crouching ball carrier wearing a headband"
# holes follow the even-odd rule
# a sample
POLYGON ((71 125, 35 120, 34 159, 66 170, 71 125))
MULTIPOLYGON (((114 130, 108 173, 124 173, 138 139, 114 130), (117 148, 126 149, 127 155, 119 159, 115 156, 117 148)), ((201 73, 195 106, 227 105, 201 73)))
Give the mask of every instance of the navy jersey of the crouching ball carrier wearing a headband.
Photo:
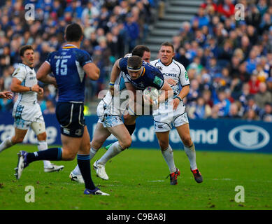
POLYGON ((120 59, 119 66, 124 77, 125 82, 131 83, 136 90, 145 90, 146 87, 152 86, 157 90, 162 89, 164 85, 164 76, 159 69, 153 67, 147 62, 143 62, 143 73, 137 79, 131 79, 129 72, 127 71, 127 59, 128 57, 123 57, 120 59))

